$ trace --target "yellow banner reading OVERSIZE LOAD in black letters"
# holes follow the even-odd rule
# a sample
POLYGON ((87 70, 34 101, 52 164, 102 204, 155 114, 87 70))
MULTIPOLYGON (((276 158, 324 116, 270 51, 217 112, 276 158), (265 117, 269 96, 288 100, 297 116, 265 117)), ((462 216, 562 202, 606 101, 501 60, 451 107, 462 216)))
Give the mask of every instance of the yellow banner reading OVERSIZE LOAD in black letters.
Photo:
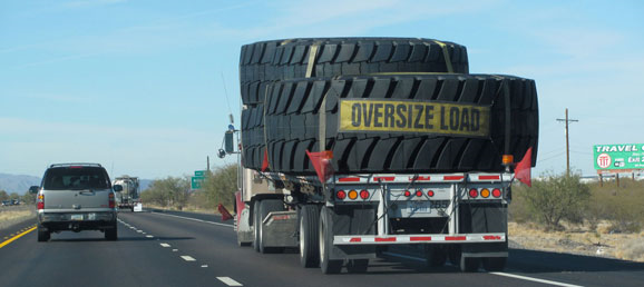
POLYGON ((412 100, 341 100, 340 131, 489 136, 490 108, 412 100))

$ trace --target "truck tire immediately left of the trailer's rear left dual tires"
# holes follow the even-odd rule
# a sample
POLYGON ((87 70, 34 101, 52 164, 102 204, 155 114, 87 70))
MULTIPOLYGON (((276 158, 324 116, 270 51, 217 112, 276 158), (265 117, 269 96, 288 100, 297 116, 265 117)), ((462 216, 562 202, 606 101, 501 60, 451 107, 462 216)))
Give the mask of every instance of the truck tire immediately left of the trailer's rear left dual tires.
POLYGON ((300 209, 300 264, 311 268, 320 266, 320 209, 304 205, 300 209))

